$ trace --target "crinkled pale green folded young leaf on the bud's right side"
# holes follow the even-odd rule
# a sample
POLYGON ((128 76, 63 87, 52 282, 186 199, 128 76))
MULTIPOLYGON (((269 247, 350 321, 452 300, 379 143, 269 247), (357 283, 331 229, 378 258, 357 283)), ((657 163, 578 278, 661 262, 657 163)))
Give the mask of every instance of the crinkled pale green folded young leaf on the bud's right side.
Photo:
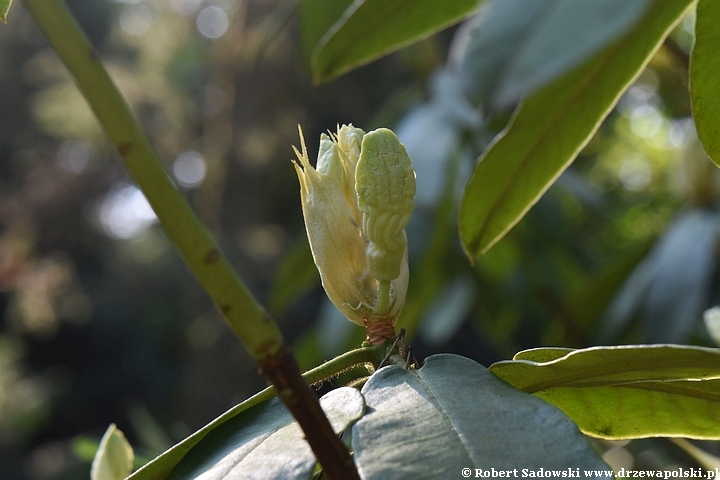
POLYGON ((405 146, 391 130, 380 128, 363 137, 355 190, 363 233, 370 242, 370 274, 380 281, 394 280, 407 248, 404 229, 415 205, 415 172, 405 146))

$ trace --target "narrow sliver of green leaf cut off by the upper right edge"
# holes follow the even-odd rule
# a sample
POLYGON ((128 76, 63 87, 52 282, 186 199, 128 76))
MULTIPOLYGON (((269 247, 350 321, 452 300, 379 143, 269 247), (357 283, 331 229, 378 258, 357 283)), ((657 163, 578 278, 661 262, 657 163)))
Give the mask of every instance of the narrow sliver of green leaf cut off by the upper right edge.
POLYGON ((690 57, 690 99, 698 137, 705 152, 720 165, 720 2, 700 0, 695 45, 690 57))

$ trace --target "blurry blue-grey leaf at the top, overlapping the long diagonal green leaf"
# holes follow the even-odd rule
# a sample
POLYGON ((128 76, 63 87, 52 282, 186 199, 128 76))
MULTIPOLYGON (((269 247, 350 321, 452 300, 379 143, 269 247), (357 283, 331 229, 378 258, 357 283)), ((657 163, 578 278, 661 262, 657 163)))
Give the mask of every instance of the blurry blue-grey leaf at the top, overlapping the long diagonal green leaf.
POLYGON ((492 0, 474 21, 465 50, 466 90, 476 103, 513 105, 625 33, 647 6, 646 0, 492 0))

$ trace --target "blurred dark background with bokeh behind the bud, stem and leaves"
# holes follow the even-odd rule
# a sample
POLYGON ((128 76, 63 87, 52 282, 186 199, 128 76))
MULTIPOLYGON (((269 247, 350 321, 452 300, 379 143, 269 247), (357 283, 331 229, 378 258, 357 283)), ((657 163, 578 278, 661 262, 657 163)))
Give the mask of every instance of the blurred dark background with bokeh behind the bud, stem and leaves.
MULTIPOLYGON (((291 165, 298 124, 311 156, 339 123, 394 128, 408 147, 418 198, 400 326, 421 358, 714 345, 703 311, 720 294, 720 189, 691 119, 692 15, 573 166, 471 266, 457 202, 511 112, 463 96, 452 65, 464 26, 313 86, 316 0, 67 3, 304 368, 363 332, 326 300, 312 264, 291 165)), ((1 479, 87 478, 111 422, 140 464, 265 385, 19 1, 0 25, 0 312, 1 479)), ((599 448, 626 468, 694 465, 665 440, 599 448)))

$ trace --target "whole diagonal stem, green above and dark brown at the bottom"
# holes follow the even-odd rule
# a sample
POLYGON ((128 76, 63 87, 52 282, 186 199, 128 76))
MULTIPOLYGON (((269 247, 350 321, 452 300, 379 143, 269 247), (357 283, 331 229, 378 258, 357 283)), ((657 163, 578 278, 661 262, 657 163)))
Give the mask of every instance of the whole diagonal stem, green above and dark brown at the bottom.
POLYGON ((214 239, 173 184, 97 52, 60 0, 25 0, 35 22, 65 63, 80 91, 137 182, 170 240, 227 319, 243 345, 298 420, 331 479, 359 479, 317 397, 300 376, 280 329, 252 296, 214 239))

